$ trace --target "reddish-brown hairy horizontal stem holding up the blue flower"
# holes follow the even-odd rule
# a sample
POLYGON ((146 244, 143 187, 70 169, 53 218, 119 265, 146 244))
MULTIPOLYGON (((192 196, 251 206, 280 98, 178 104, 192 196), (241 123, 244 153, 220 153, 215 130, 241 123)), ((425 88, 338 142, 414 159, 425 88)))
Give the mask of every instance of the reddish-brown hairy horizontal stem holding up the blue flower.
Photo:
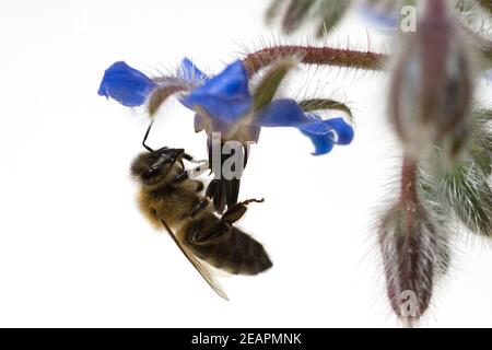
POLYGON ((380 70, 387 56, 371 51, 354 51, 331 47, 313 46, 273 46, 251 52, 244 59, 249 77, 272 65, 279 58, 298 56, 306 65, 327 65, 365 70, 380 70))

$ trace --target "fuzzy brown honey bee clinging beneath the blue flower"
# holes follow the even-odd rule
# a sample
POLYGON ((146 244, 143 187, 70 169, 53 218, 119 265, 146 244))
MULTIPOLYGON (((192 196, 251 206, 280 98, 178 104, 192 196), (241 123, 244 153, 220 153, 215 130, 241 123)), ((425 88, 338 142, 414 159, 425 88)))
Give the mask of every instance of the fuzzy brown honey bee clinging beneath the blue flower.
POLYGON ((131 165, 131 175, 139 184, 139 209, 154 226, 166 229, 220 296, 227 300, 208 265, 230 273, 250 276, 272 266, 263 246, 234 226, 248 203, 262 200, 237 202, 220 217, 209 197, 200 194, 203 184, 191 178, 194 171, 186 170, 184 160, 192 161, 192 158, 184 149, 148 150, 131 165))

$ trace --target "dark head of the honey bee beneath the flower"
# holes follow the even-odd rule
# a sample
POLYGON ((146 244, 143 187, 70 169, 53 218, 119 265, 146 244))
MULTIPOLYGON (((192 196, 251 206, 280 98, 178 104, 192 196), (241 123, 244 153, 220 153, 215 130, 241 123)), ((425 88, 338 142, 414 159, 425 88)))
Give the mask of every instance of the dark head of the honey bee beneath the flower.
POLYGON ((142 153, 131 164, 131 175, 147 186, 159 186, 172 178, 174 165, 185 153, 183 149, 168 149, 166 147, 142 153))

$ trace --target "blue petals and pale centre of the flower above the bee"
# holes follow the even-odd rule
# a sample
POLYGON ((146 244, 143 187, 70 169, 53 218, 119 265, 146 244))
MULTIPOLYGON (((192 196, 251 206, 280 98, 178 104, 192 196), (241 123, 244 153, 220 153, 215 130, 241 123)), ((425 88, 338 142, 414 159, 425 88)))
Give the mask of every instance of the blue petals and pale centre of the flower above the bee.
POLYGON ((305 113, 294 100, 273 100, 255 109, 248 72, 241 60, 208 77, 185 58, 176 77, 154 80, 125 62, 116 62, 106 70, 98 93, 125 106, 139 106, 160 88, 176 84, 180 86, 179 102, 196 113, 196 131, 206 130, 209 137, 221 132, 223 141, 257 142, 262 127, 293 127, 313 141, 315 155, 353 139, 352 127, 342 118, 323 120, 316 114, 305 113))

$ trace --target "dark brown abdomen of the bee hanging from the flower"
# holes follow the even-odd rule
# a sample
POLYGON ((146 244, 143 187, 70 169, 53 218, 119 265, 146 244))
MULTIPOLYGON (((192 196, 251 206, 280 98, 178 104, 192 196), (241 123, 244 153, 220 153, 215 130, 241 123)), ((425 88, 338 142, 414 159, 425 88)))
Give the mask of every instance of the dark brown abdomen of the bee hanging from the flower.
POLYGON ((201 224, 202 222, 198 221, 184 228, 188 248, 200 259, 234 275, 258 275, 272 267, 263 246, 236 228, 232 228, 220 237, 197 244, 192 237, 201 224))

